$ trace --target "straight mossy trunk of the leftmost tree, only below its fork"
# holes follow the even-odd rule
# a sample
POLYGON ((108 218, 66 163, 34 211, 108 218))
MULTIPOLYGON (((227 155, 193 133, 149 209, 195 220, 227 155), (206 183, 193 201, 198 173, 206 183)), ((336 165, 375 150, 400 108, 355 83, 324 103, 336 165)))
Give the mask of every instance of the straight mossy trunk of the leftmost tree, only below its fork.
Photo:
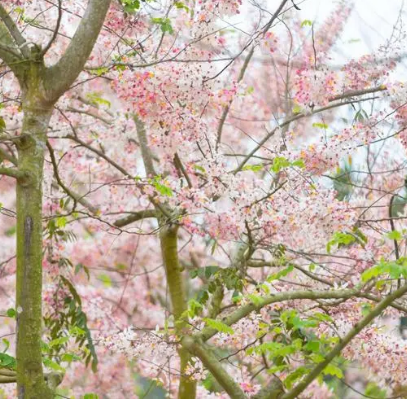
POLYGON ((50 109, 24 107, 17 144, 17 390, 19 399, 52 399, 42 370, 42 182, 50 109))

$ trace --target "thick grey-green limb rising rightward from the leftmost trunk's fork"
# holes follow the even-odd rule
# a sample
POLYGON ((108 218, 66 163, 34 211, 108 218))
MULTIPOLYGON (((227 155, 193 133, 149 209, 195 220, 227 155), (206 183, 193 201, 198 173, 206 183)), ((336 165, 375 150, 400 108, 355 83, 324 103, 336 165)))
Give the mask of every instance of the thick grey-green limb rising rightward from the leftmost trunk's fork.
POLYGON ((89 0, 85 14, 60 60, 48 70, 46 91, 52 99, 59 98, 83 70, 102 29, 110 0, 89 0))

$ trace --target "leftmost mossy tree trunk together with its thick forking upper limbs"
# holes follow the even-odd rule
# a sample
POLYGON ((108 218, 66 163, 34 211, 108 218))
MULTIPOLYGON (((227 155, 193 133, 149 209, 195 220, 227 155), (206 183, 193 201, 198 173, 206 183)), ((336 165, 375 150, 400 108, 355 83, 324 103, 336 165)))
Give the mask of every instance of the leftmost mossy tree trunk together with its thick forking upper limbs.
MULTIPOLYGON (((17 180, 17 391, 19 399, 54 398, 42 368, 42 184, 47 129, 54 104, 83 70, 105 20, 110 0, 89 0, 71 43, 46 67, 42 50, 25 40, 0 3, 0 59, 19 81, 23 127, 13 140, 17 168, 0 174, 17 180), (13 48, 15 51, 8 51, 13 48)), ((50 384, 52 385, 52 384, 50 384)))

